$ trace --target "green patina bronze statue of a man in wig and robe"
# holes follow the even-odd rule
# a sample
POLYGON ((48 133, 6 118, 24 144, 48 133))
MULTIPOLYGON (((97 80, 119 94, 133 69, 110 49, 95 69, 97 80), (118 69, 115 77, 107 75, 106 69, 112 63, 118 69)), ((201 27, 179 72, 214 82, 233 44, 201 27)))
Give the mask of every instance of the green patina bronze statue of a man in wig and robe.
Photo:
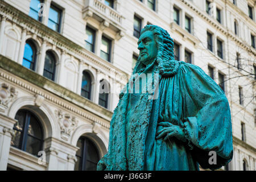
POLYGON ((232 123, 222 89, 201 68, 174 60, 174 42, 163 28, 144 27, 138 49, 133 75, 110 122, 108 153, 97 170, 199 170, 199 164, 210 169, 228 164, 232 123), (146 84, 134 86, 149 73, 146 84), (148 81, 154 82, 153 92, 142 92, 148 81), (210 154, 216 154, 215 163, 210 154))

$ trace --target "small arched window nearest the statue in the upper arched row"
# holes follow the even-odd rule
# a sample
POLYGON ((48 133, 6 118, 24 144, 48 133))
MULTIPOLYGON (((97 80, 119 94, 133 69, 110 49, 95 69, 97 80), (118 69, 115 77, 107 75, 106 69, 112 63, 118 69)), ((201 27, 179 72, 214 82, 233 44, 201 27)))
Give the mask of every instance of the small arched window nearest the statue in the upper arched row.
POLYGON ((106 80, 101 80, 98 104, 105 108, 108 108, 109 90, 110 90, 109 83, 106 80))

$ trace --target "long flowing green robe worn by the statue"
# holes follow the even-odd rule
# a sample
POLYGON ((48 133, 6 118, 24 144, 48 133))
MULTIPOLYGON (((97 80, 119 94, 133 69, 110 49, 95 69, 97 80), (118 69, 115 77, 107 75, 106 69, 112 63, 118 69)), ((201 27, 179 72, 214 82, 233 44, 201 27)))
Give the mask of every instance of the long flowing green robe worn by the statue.
MULTIPOLYGON (((110 122, 108 153, 100 160, 105 170, 199 170, 199 164, 217 169, 232 160, 232 123, 225 93, 201 68, 172 61, 177 71, 159 77, 155 100, 133 93, 120 98, 110 122), (156 139, 159 122, 180 126, 187 140, 156 139), (217 164, 211 163, 214 154, 217 164)), ((143 73, 155 69, 152 64, 143 73)))

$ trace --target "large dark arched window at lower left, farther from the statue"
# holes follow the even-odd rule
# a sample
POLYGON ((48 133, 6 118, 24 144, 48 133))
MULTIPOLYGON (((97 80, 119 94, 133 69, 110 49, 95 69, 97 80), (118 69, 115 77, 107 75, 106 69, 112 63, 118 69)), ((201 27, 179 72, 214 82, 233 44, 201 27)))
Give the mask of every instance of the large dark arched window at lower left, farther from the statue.
POLYGON ((19 110, 15 119, 11 145, 32 155, 38 155, 43 147, 43 130, 39 119, 28 110, 19 110))

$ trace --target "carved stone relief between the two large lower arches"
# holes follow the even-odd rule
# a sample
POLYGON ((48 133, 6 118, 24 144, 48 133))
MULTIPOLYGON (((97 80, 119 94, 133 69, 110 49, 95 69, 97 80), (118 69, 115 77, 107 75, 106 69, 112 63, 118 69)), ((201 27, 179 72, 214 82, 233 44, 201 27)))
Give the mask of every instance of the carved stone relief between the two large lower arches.
POLYGON ((63 113, 61 110, 55 110, 55 114, 59 120, 61 138, 68 140, 71 133, 76 129, 78 121, 75 117, 71 117, 70 114, 63 113))

